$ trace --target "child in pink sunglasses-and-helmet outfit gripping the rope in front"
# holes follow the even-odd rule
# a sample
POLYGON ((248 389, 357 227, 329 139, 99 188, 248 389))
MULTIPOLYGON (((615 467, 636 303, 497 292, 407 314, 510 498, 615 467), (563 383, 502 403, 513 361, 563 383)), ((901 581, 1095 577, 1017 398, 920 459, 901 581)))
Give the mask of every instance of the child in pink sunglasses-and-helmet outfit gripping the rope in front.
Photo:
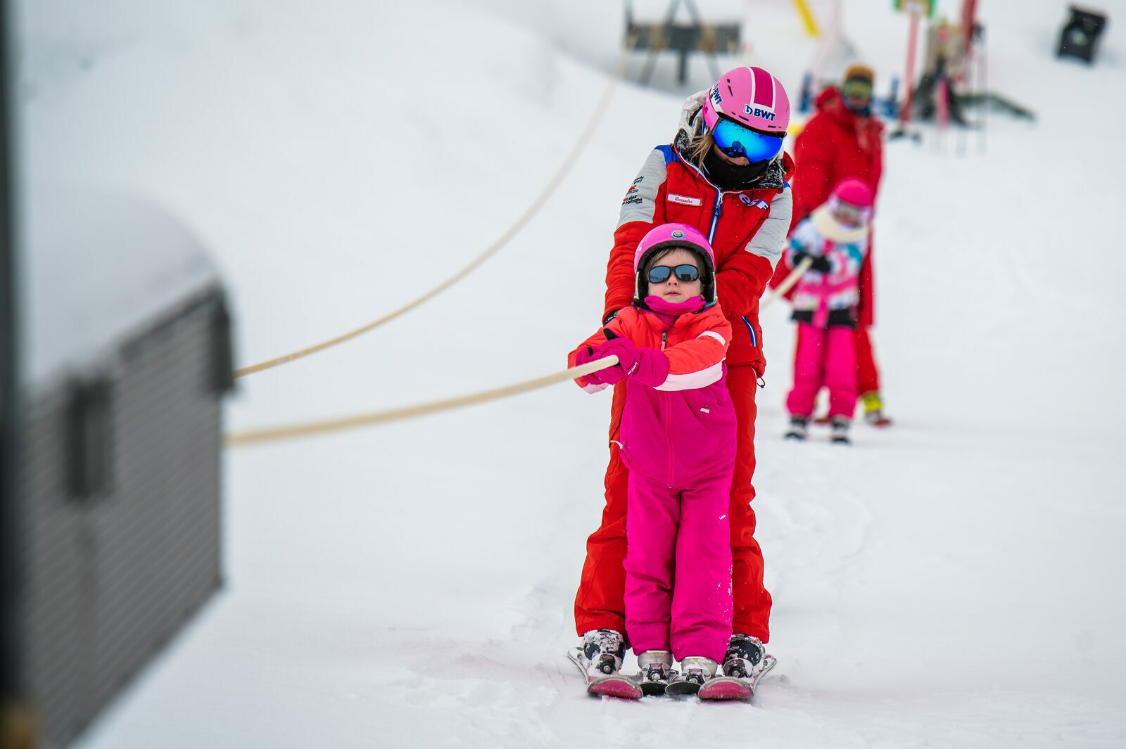
MULTIPOLYGON (((646 694, 663 691, 673 658, 681 664, 674 682, 691 692, 715 676, 732 633, 735 412, 724 383, 732 330, 716 300, 712 246, 691 226, 646 233, 634 274, 633 305, 568 359, 575 367, 618 358, 575 382, 597 392, 626 380, 610 436, 629 468, 626 635, 646 694)), ((600 666, 591 662, 588 674, 606 673, 600 666)))

